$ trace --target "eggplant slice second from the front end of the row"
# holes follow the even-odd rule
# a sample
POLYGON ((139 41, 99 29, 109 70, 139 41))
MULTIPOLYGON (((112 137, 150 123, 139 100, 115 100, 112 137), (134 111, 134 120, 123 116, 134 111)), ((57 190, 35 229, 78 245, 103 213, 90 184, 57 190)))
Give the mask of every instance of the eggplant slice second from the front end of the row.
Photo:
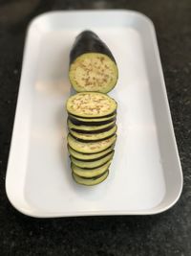
POLYGON ((87 170, 84 168, 80 168, 76 165, 74 165, 74 163, 71 164, 71 169, 74 172, 75 175, 78 176, 82 176, 82 177, 95 177, 97 175, 103 175, 108 168, 110 167, 112 161, 108 161, 107 163, 105 163, 104 165, 102 165, 101 167, 96 167, 95 169, 91 169, 91 170, 87 170))

